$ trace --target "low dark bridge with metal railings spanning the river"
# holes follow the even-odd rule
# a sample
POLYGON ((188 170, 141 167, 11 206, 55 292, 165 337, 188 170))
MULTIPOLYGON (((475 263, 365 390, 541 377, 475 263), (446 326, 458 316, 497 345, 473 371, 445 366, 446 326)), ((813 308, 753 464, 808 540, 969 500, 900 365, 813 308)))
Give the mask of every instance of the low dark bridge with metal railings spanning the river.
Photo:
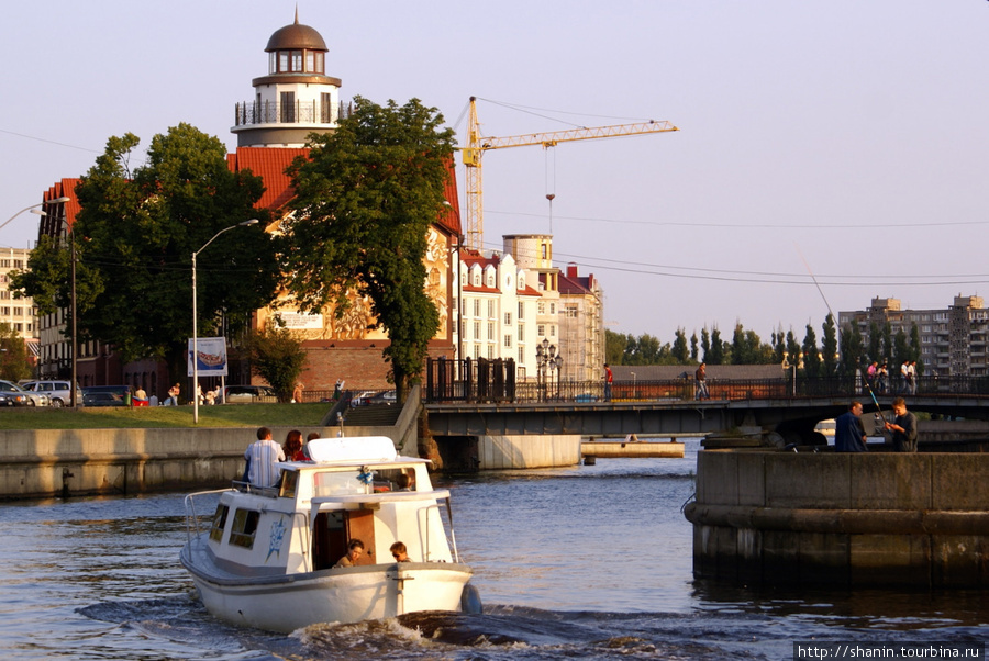
MULTIPOLYGON (((468 363, 470 361, 464 361, 468 363)), ((480 361, 478 361, 480 362, 480 361)), ((510 361, 505 361, 508 363, 510 361)), ((889 412, 894 393, 875 394, 860 377, 813 380, 708 381, 710 400, 696 401, 692 379, 614 383, 515 383, 513 370, 490 361, 453 378, 455 361, 429 366, 423 404, 433 436, 579 435, 585 437, 764 435, 775 445, 815 445, 824 419, 863 402, 869 413, 889 412), (610 394, 609 396, 605 396, 610 394), (878 408, 877 404, 878 403, 878 408)), ((903 395, 914 412, 989 419, 989 378, 921 378, 903 395)))

